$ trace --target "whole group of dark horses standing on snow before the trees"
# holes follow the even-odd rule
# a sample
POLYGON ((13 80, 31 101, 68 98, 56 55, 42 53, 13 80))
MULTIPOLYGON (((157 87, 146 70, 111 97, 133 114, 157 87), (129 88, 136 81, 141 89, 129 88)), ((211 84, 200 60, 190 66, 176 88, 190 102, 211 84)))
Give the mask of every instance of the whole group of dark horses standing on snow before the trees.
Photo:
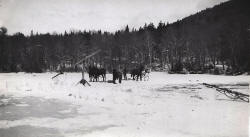
MULTIPOLYGON (((90 82, 97 82, 99 81, 99 78, 102 78, 102 81, 106 81, 106 72, 107 70, 102 67, 97 66, 89 66, 88 67, 88 73, 89 73, 89 80, 90 82)), ((121 83, 122 75, 124 76, 124 79, 127 80, 127 73, 130 72, 130 76, 133 80, 141 80, 145 75, 149 74, 148 69, 145 69, 144 66, 139 66, 134 69, 131 69, 130 71, 127 71, 126 68, 121 70, 113 69, 113 82, 118 79, 119 83, 121 83)), ((115 82, 114 82, 115 83, 115 82)))

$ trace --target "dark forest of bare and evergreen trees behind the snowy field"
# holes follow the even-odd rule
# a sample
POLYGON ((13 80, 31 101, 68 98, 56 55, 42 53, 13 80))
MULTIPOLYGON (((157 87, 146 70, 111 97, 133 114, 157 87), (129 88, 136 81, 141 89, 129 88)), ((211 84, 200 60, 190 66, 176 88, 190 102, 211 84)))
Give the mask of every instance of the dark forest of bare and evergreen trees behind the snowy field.
POLYGON ((72 30, 9 35, 2 26, 0 72, 80 71, 74 64, 100 49, 88 62, 108 71, 143 64, 169 73, 249 73, 249 17, 247 0, 231 0, 174 23, 126 26, 113 33, 72 30))

